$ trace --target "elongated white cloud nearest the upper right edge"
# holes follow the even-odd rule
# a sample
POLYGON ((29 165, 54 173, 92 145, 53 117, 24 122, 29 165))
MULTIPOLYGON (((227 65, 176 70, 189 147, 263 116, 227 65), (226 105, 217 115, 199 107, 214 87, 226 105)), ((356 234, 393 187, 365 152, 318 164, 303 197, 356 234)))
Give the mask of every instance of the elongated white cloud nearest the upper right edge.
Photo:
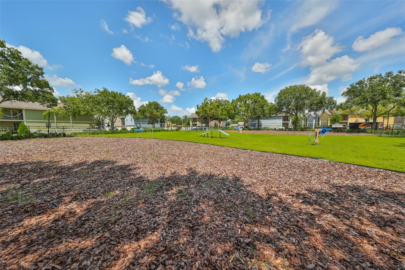
POLYGON ((354 51, 369 51, 390 42, 394 36, 403 34, 402 29, 399 27, 387 27, 382 31, 377 31, 371 34, 367 39, 359 36, 353 43, 352 48, 354 51))

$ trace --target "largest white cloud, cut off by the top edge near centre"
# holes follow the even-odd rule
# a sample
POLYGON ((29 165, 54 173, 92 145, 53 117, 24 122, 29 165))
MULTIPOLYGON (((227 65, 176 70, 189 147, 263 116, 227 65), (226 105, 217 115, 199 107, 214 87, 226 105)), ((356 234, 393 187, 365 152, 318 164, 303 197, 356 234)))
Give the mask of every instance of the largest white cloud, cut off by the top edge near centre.
POLYGON ((167 1, 175 10, 175 19, 188 27, 188 37, 207 42, 220 51, 225 36, 258 29, 265 22, 258 1, 167 1))

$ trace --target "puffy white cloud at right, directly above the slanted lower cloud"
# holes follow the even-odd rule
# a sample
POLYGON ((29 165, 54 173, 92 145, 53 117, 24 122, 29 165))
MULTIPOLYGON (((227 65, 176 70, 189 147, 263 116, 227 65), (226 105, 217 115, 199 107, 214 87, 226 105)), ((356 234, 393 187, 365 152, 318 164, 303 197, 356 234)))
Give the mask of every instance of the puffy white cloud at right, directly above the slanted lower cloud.
POLYGON ((333 36, 325 34, 320 29, 315 29, 312 34, 302 38, 296 49, 301 50, 303 66, 316 67, 325 64, 326 60, 342 51, 343 47, 339 44, 334 45, 333 36))

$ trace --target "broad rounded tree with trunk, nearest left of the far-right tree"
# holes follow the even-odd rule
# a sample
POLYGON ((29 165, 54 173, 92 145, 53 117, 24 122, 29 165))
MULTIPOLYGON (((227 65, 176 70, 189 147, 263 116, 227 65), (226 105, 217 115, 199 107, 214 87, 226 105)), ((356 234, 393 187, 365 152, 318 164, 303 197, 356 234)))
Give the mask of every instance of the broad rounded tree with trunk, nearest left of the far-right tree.
POLYGON ((277 113, 294 116, 294 129, 298 127, 298 116, 305 111, 323 111, 336 106, 333 96, 313 89, 305 84, 287 86, 274 99, 277 113))

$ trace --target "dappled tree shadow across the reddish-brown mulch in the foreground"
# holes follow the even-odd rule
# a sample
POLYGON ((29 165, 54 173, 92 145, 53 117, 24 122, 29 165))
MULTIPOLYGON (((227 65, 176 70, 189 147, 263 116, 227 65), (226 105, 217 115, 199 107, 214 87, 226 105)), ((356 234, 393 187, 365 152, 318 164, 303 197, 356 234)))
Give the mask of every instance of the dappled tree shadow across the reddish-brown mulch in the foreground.
POLYGON ((236 176, 146 179, 109 160, 0 167, 2 269, 405 268, 404 193, 262 196, 236 176))

